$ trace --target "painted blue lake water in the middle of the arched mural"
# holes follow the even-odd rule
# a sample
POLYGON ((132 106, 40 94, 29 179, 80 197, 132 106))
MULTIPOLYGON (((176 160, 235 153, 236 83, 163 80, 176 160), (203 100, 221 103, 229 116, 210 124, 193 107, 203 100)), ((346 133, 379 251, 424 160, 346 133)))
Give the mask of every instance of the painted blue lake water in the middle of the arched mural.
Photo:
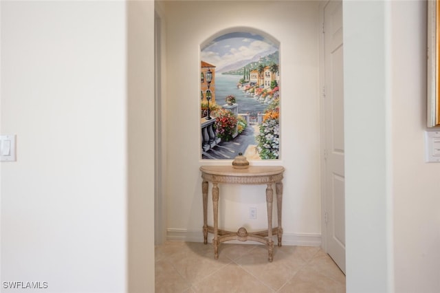
POLYGON ((216 74, 215 75, 215 101, 218 105, 225 104, 225 98, 228 95, 234 95, 236 103, 239 105, 239 113, 250 113, 250 116, 256 116, 257 113, 264 113, 267 104, 254 100, 254 97, 245 94, 236 87, 239 83, 239 75, 216 74))

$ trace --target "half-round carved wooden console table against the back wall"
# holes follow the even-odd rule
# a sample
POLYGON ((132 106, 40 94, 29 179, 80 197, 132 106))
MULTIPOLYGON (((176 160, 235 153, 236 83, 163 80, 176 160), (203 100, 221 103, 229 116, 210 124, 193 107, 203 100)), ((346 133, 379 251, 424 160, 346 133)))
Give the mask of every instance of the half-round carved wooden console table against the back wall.
POLYGON ((230 240, 259 241, 267 245, 269 261, 274 257, 273 235, 278 236, 278 246, 281 246, 283 228, 281 228, 281 210, 283 206, 283 172, 282 166, 250 166, 248 169, 234 169, 232 166, 201 166, 201 190, 203 194, 203 242, 208 243, 208 232, 214 234, 212 244, 214 246, 214 258, 219 258, 219 243, 230 240), (207 224, 208 213, 208 188, 212 182, 212 209, 214 215, 214 227, 207 224), (237 232, 219 230, 219 184, 266 184, 267 203, 267 230, 248 232, 241 227, 237 232), (276 186, 278 226, 272 228, 272 202, 276 186))

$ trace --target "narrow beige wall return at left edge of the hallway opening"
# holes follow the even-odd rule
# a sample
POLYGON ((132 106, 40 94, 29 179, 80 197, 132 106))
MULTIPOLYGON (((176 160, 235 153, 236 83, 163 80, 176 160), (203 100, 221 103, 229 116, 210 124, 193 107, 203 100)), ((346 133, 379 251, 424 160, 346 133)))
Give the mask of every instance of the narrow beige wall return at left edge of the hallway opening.
POLYGON ((128 289, 154 292, 154 2, 127 2, 128 289))

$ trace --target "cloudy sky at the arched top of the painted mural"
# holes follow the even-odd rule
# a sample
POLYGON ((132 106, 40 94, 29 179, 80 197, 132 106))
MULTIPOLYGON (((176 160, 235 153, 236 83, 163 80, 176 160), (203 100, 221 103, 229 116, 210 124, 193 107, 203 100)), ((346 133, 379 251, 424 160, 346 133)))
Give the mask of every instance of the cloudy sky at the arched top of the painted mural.
POLYGON ((232 32, 223 34, 201 49, 201 60, 221 69, 227 65, 276 52, 278 47, 259 34, 232 32))

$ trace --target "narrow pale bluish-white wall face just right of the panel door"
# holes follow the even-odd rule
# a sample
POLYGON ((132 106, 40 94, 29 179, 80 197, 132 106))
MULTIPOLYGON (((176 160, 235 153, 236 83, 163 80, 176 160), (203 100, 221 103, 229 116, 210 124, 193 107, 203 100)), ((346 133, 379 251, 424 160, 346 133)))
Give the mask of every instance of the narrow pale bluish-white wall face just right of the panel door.
POLYGON ((386 4, 346 1, 343 9, 347 292, 387 292, 393 231, 386 4))

